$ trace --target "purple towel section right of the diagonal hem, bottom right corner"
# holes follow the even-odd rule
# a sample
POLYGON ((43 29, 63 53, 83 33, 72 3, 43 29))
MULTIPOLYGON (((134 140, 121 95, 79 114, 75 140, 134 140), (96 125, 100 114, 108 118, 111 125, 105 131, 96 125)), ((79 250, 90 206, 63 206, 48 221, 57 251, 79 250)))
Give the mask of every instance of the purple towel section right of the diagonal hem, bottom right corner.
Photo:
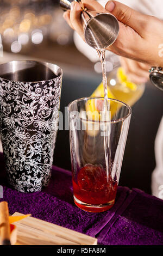
POLYGON ((98 241, 102 245, 163 245, 162 216, 163 201, 134 188, 98 234, 98 241))

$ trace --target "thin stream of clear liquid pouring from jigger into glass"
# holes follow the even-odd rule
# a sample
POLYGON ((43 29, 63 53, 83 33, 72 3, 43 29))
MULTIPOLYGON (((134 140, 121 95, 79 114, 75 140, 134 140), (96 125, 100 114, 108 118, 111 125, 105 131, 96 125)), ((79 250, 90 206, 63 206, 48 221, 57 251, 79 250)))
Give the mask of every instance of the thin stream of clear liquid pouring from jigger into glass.
POLYGON ((102 75, 103 75, 103 87, 104 87, 104 105, 102 109, 102 121, 106 121, 104 124, 104 153, 105 153, 105 163, 106 163, 106 175, 109 179, 109 174, 111 174, 111 142, 110 142, 110 104, 108 102, 108 79, 106 76, 106 60, 105 60, 105 49, 96 49, 101 60, 102 65, 102 75))

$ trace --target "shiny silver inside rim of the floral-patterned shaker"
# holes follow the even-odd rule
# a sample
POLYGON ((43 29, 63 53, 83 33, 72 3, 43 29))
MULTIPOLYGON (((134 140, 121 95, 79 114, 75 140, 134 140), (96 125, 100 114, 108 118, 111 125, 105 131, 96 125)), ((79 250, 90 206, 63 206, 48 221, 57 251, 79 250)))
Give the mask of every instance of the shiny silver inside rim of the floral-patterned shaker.
POLYGON ((26 83, 27 81, 8 79, 3 76, 7 74, 14 74, 16 72, 20 72, 29 68, 34 68, 36 65, 42 65, 45 67, 46 70, 48 69, 51 70, 51 72, 53 72, 55 77, 52 77, 50 79, 37 80, 37 81, 33 80, 33 81, 30 81, 31 83, 51 81, 51 80, 54 80, 55 78, 62 77, 62 74, 63 74, 62 69, 54 63, 42 62, 39 60, 12 60, 10 62, 0 64, 0 78, 10 82, 26 83))

